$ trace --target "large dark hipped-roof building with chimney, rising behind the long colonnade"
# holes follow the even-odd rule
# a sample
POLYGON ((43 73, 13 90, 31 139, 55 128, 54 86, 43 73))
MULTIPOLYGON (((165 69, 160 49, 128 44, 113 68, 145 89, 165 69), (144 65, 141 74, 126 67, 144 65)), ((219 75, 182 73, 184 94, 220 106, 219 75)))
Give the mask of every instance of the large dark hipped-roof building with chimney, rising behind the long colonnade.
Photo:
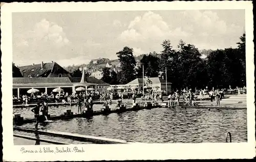
POLYGON ((53 61, 20 66, 19 70, 25 78, 71 77, 69 72, 53 61))

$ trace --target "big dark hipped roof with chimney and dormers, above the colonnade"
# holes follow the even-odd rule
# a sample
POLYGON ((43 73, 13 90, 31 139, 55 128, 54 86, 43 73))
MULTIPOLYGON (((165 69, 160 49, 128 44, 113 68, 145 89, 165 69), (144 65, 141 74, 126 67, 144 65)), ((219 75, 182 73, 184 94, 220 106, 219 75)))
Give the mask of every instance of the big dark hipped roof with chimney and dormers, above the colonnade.
POLYGON ((23 74, 23 77, 48 77, 49 74, 52 72, 58 71, 61 68, 61 71, 64 73, 69 73, 65 69, 63 69, 59 64, 56 62, 51 63, 43 63, 41 68, 41 64, 34 64, 34 65, 27 65, 27 66, 20 66, 19 70, 23 74))

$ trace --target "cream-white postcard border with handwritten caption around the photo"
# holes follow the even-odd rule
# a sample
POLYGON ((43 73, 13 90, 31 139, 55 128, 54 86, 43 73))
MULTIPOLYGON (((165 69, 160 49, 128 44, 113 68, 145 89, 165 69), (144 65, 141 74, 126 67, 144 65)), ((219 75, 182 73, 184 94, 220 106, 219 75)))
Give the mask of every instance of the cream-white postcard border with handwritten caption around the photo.
MULTIPOLYGON (((3 159, 8 161, 54 160, 125 160, 125 159, 212 159, 252 158, 255 156, 254 117, 254 50, 253 13, 251 2, 118 2, 118 3, 12 3, 1 7, 2 50, 2 126, 3 159), (60 7, 61 6, 61 7, 60 7), (22 154, 22 147, 35 150, 46 146, 14 146, 12 130, 12 12, 46 11, 124 11, 124 10, 187 10, 245 9, 246 16, 246 79, 247 79, 247 143, 202 144, 129 144, 69 145, 83 147, 84 153, 22 154)), ((225 134, 223 134, 224 136, 225 134)), ((47 146, 48 147, 48 146, 47 146)), ((56 145, 49 146, 55 149, 56 145)), ((57 147, 60 147, 59 145, 57 147)), ((63 146, 67 147, 67 146, 63 146)))

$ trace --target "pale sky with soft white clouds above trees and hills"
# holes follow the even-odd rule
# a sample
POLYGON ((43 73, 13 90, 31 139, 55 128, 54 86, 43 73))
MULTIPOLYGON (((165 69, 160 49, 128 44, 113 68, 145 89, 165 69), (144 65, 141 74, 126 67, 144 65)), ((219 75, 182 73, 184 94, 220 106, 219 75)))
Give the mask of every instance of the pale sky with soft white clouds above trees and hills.
POLYGON ((180 39, 199 50, 236 48, 244 32, 244 10, 12 13, 13 62, 76 65, 117 59, 125 46, 137 56, 161 52, 165 39, 174 49, 180 39))

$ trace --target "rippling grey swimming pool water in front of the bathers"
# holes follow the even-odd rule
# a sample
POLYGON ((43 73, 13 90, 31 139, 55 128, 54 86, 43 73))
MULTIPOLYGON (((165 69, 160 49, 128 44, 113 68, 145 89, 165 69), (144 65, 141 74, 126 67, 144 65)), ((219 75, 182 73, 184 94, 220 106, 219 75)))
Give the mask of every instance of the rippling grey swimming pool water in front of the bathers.
MULTIPOLYGON (((114 108, 114 105, 112 105, 114 108)), ((101 108, 96 106, 94 110, 101 108)), ((31 108, 30 108, 31 109, 31 108)), ((30 109, 14 109, 22 116, 33 117, 30 109)), ((76 106, 49 108, 51 114, 76 106), (51 110, 50 110, 51 109, 51 110)), ((34 123, 23 127, 34 128, 34 123)), ((247 115, 244 110, 231 109, 170 109, 127 111, 96 115, 90 119, 74 118, 57 120, 38 126, 52 131, 71 132, 84 135, 103 136, 143 143, 205 143, 225 142, 226 132, 232 135, 232 142, 247 142, 247 115)))

